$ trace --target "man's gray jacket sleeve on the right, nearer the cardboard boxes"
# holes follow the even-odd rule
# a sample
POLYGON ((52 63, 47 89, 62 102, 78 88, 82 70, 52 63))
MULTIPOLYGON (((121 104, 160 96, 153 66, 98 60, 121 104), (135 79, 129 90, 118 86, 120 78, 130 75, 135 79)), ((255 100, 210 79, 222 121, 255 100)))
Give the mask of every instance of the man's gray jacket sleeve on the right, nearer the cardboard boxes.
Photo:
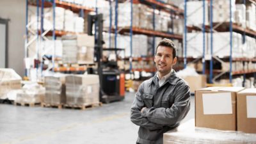
POLYGON ((147 108, 142 115, 156 124, 175 125, 187 115, 189 109, 189 86, 186 83, 181 83, 176 87, 174 103, 171 108, 147 108))

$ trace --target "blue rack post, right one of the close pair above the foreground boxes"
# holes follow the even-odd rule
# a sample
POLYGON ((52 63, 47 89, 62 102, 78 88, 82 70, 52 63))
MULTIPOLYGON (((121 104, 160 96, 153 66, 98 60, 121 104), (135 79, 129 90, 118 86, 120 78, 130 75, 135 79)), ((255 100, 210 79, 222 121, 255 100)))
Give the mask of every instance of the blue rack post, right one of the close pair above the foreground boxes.
POLYGON ((213 66, 213 61, 212 61, 212 0, 210 3, 210 29, 211 29, 211 60, 210 60, 210 77, 209 77, 209 82, 212 83, 212 66, 213 66))

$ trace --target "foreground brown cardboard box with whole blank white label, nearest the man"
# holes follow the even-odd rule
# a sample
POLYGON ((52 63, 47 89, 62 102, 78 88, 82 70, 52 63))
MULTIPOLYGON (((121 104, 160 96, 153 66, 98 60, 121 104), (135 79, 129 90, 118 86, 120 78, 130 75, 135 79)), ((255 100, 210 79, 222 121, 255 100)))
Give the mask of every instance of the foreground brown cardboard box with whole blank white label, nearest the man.
POLYGON ((243 87, 209 87, 195 92, 195 125, 236 131, 236 97, 243 87))

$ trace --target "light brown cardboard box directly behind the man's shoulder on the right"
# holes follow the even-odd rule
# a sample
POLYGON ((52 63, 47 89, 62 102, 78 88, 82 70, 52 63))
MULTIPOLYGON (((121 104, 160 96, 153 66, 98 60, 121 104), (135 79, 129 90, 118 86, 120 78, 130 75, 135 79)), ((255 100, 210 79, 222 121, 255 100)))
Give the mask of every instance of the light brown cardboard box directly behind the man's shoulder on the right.
POLYGON ((189 85, 190 92, 195 93, 196 90, 206 87, 206 76, 186 76, 182 77, 189 85))

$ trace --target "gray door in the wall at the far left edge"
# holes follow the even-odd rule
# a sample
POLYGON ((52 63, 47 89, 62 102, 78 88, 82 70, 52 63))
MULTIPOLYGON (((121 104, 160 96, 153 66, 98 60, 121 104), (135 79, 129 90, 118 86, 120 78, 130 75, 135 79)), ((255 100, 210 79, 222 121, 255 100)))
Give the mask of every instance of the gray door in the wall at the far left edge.
POLYGON ((0 68, 7 68, 8 20, 0 19, 0 68))

